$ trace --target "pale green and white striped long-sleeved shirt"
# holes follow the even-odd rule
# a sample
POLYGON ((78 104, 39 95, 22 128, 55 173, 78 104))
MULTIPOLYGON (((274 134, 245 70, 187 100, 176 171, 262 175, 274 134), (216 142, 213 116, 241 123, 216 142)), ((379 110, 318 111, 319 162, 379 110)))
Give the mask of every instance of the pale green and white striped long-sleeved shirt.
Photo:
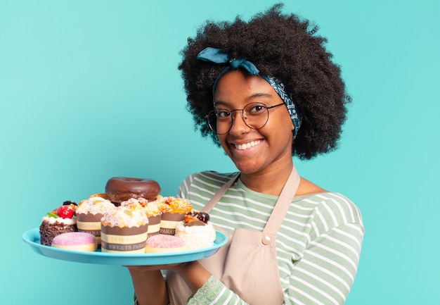
MULTIPOLYGON (((205 171, 190 175, 178 196, 201 210, 235 174, 205 171)), ((231 233, 235 228, 263 231, 277 199, 248 189, 238 179, 212 208, 210 219, 231 233)), ((276 239, 284 304, 344 304, 356 275, 363 232, 360 211, 342 194, 295 197, 276 239)), ((188 304, 245 302, 211 277, 188 304)))

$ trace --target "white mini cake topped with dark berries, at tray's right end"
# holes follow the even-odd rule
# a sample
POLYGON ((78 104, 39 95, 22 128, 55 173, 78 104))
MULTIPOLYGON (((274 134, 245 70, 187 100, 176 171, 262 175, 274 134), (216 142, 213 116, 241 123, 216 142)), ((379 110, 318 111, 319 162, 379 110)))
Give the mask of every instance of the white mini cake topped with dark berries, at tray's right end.
POLYGON ((176 237, 181 237, 190 250, 204 249, 214 245, 216 232, 208 213, 193 210, 176 225, 176 237))

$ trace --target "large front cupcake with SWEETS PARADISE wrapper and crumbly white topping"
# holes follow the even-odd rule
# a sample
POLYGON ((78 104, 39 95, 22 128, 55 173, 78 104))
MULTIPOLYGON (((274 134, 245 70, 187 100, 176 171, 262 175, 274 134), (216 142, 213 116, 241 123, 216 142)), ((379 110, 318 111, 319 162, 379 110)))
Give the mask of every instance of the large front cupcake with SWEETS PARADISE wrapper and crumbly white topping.
POLYGON ((101 251, 145 253, 148 216, 141 204, 117 206, 101 218, 101 251))

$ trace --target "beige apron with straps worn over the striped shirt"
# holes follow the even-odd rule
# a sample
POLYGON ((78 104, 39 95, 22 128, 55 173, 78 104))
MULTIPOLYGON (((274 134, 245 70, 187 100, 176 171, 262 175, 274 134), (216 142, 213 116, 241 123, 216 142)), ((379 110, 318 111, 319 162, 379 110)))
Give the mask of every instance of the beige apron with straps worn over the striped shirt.
MULTIPOLYGON (((203 211, 211 211, 237 179, 238 175, 226 182, 203 211)), ((294 166, 263 232, 238 228, 231 236, 221 228, 216 228, 228 235, 228 243, 213 256, 200 260, 202 266, 247 304, 276 305, 284 302, 276 257, 276 234, 298 185, 299 175, 294 166)), ((167 282, 171 304, 185 304, 191 295, 186 283, 172 272, 167 274, 167 282)))

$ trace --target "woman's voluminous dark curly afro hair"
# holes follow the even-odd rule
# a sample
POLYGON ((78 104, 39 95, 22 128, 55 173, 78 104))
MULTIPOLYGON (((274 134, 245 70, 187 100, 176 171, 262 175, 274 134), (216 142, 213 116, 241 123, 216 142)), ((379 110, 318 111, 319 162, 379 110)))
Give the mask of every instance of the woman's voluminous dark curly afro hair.
POLYGON ((281 13, 282 8, 276 4, 247 22, 239 16, 233 22, 208 20, 194 38, 188 38, 179 70, 196 129, 217 145, 219 139, 205 115, 214 108, 212 85, 226 64, 200 61, 199 52, 207 46, 223 49, 231 58, 246 58, 260 73, 277 77, 302 118, 292 156, 311 159, 337 149, 351 98, 339 66, 325 49, 327 39, 316 35, 318 27, 295 14, 281 13))

